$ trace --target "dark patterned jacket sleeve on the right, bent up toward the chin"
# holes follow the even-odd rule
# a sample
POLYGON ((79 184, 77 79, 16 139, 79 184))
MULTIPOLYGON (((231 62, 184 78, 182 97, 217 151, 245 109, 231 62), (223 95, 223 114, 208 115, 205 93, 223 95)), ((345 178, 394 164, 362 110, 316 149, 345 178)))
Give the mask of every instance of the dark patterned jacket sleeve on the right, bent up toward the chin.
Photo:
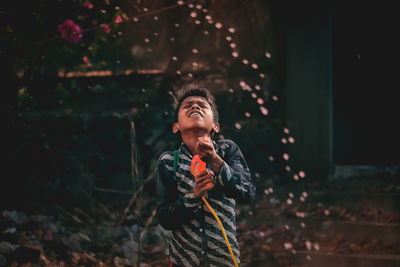
POLYGON ((251 180, 251 173, 239 147, 230 140, 218 180, 227 197, 235 198, 240 203, 253 202, 256 187, 251 180))

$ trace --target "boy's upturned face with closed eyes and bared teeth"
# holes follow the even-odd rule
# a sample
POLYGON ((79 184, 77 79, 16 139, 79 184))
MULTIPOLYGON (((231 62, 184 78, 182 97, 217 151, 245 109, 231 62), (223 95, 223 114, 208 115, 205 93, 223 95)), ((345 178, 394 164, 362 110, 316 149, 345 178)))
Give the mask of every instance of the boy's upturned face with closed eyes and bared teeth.
POLYGON ((183 100, 178 111, 178 122, 172 127, 174 133, 180 131, 181 134, 194 129, 204 130, 208 134, 211 130, 219 131, 210 104, 201 96, 189 96, 183 100))

